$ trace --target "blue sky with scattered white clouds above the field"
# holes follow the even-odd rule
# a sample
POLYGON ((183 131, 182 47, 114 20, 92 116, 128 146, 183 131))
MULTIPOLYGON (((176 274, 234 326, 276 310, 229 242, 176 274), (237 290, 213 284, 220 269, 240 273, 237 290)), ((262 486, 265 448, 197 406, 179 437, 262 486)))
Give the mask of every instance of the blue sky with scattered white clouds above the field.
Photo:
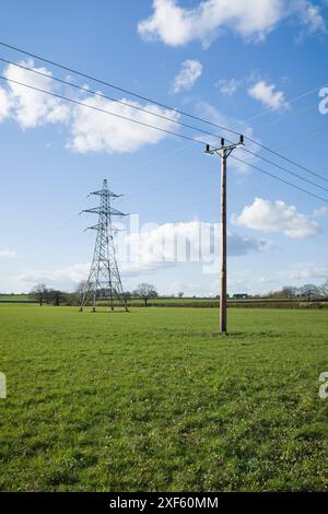
POLYGON ((229 159, 229 292, 328 279, 327 1, 4 0, 0 33, 3 43, 150 98, 0 45, 0 58, 21 66, 0 60, 8 79, 0 79, 0 292, 38 282, 71 291, 87 278, 95 233, 84 229, 96 220, 80 212, 96 205, 87 195, 107 178, 124 195, 115 208, 130 214, 117 220, 124 289, 149 282, 162 294, 219 293, 221 163, 200 141, 238 137, 176 109, 303 166, 248 140, 256 155, 238 149, 229 159))

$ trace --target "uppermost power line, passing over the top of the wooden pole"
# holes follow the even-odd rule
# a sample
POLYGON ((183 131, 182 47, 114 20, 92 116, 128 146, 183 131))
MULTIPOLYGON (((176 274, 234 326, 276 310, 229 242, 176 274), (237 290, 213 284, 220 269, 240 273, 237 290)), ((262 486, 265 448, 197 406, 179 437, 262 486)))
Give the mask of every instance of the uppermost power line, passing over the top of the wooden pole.
MULTIPOLYGON (((134 96, 134 97, 137 97, 137 98, 143 100, 143 101, 145 101, 145 102, 151 102, 152 104, 155 104, 155 105, 157 105, 157 106, 160 106, 160 107, 163 107, 163 108, 165 108, 165 109, 175 110, 176 113, 180 114, 181 116, 187 116, 187 117, 189 117, 190 119, 195 119, 195 120, 198 120, 198 121, 208 124, 208 125, 210 125, 210 126, 212 126, 212 127, 216 127, 216 128, 219 128, 219 129, 221 129, 221 130, 227 131, 227 132, 230 132, 230 133, 233 133, 233 135, 235 135, 235 136, 239 136, 239 132, 237 132, 237 131, 235 131, 235 130, 232 130, 232 129, 229 129, 227 127, 224 127, 224 126, 219 125, 219 124, 214 124, 213 121, 210 121, 210 120, 204 119, 204 118, 200 118, 200 117, 198 117, 198 116, 194 116, 194 115, 191 115, 191 114, 189 114, 189 113, 186 113, 186 112, 184 112, 184 110, 179 110, 179 109, 177 109, 177 108, 169 107, 168 105, 165 105, 165 104, 163 104, 163 103, 156 102, 156 101, 154 101, 154 100, 152 100, 152 98, 149 98, 149 97, 147 97, 147 96, 140 95, 140 94, 134 93, 134 92, 132 92, 132 91, 129 91, 129 90, 127 90, 127 89, 120 87, 120 86, 115 85, 115 84, 113 84, 113 83, 110 83, 110 82, 106 82, 106 81, 104 81, 104 80, 102 80, 102 79, 97 79, 97 78, 95 78, 95 77, 93 77, 93 75, 91 75, 91 74, 84 73, 84 72, 82 72, 82 71, 78 71, 78 70, 75 70, 75 69, 73 69, 73 68, 70 68, 70 67, 68 67, 68 66, 60 65, 60 63, 58 63, 58 62, 56 62, 56 61, 54 61, 54 60, 51 60, 51 59, 47 59, 47 58, 42 57, 42 56, 36 55, 36 54, 32 54, 32 52, 30 52, 30 51, 27 51, 27 50, 24 50, 24 49, 22 49, 22 48, 15 47, 15 46, 13 46, 13 45, 9 45, 8 43, 4 43, 4 42, 0 42, 0 45, 1 45, 2 47, 10 48, 11 50, 17 51, 17 52, 20 52, 20 54, 24 54, 24 55, 26 55, 26 56, 28 56, 28 57, 32 57, 32 58, 34 58, 34 59, 38 59, 38 60, 40 60, 40 61, 43 61, 43 62, 47 62, 48 65, 55 66, 55 67, 60 68, 60 69, 62 69, 62 70, 65 70, 65 71, 68 71, 68 72, 70 72, 70 73, 74 73, 74 74, 77 74, 77 75, 83 77, 84 79, 92 80, 92 81, 97 82, 97 83, 99 83, 99 84, 106 85, 107 87, 115 89, 116 91, 120 91, 120 92, 122 92, 122 93, 129 94, 129 95, 134 96)), ((117 115, 117 116, 118 116, 118 115, 117 115)), ((157 130, 159 130, 159 128, 157 128, 157 130)), ((162 130, 164 130, 164 129, 162 129, 162 130)), ((167 133, 169 133, 169 131, 167 131, 167 133)), ((216 135, 215 135, 215 137, 216 137, 216 135)), ((185 138, 186 138, 186 137, 185 137, 185 138)), ((262 150, 266 150, 266 151, 268 151, 268 152, 274 154, 276 156, 278 156, 278 157, 280 157, 280 159, 285 160, 285 161, 289 162, 290 164, 293 164, 294 166, 300 167, 300 168, 303 170, 304 172, 309 173, 309 174, 312 174, 312 175, 314 175, 314 176, 317 176, 318 178, 320 178, 320 179, 323 179, 323 180, 325 180, 325 182, 328 182, 326 177, 323 177, 321 175, 316 174, 315 172, 313 172, 313 171, 311 171, 309 168, 307 168, 307 167, 305 167, 305 166, 303 166, 303 165, 296 163, 295 161, 293 161, 293 160, 291 160, 291 159, 289 159, 289 157, 285 157, 284 155, 282 155, 282 154, 280 154, 280 153, 276 152, 274 150, 271 150, 269 147, 266 147, 266 145, 261 144, 259 141, 257 141, 257 140, 253 139, 253 138, 249 138, 249 137, 247 137, 247 136, 245 136, 245 139, 247 139, 248 141, 253 142, 254 144, 257 144, 257 145, 258 145, 259 148, 261 148, 262 150)), ((229 140, 227 140, 227 141, 229 141, 229 140)), ((230 141, 230 142, 232 142, 232 141, 230 141)))

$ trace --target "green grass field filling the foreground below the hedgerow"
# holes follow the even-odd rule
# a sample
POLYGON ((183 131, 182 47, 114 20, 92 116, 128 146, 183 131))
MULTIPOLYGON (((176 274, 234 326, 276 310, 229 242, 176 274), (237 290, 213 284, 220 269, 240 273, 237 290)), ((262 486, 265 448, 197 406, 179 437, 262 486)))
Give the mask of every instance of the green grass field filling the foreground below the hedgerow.
POLYGON ((327 316, 1 305, 0 489, 327 491, 327 316))

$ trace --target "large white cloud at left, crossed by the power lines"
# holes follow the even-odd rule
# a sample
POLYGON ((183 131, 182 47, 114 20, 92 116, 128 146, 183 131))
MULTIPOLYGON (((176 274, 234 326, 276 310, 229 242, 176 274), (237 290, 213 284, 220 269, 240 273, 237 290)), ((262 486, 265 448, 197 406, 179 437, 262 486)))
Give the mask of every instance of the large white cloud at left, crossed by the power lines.
MULTIPOLYGON (((21 61, 20 65, 32 68, 43 75, 9 65, 3 71, 4 77, 33 87, 62 94, 62 87, 51 81, 49 70, 36 68, 33 60, 21 61)), ((121 98, 124 104, 129 103, 131 107, 87 93, 74 96, 70 91, 67 95, 93 108, 68 104, 60 98, 8 82, 7 89, 0 89, 0 121, 11 118, 16 120, 23 129, 45 124, 65 125, 69 132, 68 148, 81 153, 132 152, 145 144, 157 143, 167 137, 167 133, 151 129, 145 125, 155 125, 164 130, 176 131, 174 121, 156 118, 138 108, 177 120, 179 115, 175 110, 121 98), (104 109, 116 116, 96 109, 104 109), (122 119, 125 117, 131 118, 134 122, 122 119)))

